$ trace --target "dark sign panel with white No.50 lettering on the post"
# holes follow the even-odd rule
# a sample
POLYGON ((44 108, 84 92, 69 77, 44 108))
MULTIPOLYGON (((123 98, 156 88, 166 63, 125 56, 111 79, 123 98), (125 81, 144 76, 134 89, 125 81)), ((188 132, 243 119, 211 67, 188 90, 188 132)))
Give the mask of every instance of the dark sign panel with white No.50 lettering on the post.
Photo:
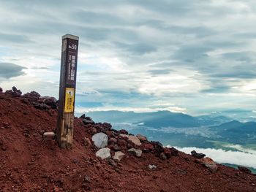
POLYGON ((75 85, 78 64, 78 41, 67 39, 66 83, 75 85))

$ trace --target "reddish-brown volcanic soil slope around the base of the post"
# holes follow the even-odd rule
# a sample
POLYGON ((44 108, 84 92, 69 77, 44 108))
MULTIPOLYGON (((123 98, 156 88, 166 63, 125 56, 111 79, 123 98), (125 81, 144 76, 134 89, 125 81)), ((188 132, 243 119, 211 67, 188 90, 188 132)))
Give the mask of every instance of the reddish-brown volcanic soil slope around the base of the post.
POLYGON ((84 125, 83 118, 75 118, 72 150, 60 149, 42 137, 56 128, 57 110, 32 100, 0 92, 0 191, 256 191, 255 174, 220 164, 213 172, 194 156, 157 142, 142 142, 141 157, 129 154, 136 146, 108 123, 84 125), (118 140, 117 148, 108 147, 112 155, 125 153, 121 161, 96 157, 98 149, 90 142, 97 132, 118 140), (162 150, 166 160, 159 158, 162 150), (149 164, 157 168, 148 169, 149 164))

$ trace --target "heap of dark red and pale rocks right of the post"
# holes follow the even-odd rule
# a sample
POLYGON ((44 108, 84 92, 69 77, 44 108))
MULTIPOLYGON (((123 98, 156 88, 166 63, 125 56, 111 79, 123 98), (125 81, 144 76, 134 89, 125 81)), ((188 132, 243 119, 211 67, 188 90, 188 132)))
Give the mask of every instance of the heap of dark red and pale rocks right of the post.
MULTIPOLYGON (((91 141, 97 148, 97 156, 105 158, 108 151, 115 161, 121 161, 125 156, 139 158, 143 153, 153 153, 160 159, 167 160, 172 156, 178 156, 178 150, 171 147, 163 147, 159 142, 150 142, 143 135, 128 134, 125 130, 115 130, 109 123, 94 123, 94 121, 82 115, 83 126, 91 134, 91 141), (89 121, 91 121, 89 123, 89 121), (93 122, 93 123, 92 123, 93 122), (104 148, 104 150, 102 150, 104 148)), ((85 141, 86 145, 89 141, 85 141)))

